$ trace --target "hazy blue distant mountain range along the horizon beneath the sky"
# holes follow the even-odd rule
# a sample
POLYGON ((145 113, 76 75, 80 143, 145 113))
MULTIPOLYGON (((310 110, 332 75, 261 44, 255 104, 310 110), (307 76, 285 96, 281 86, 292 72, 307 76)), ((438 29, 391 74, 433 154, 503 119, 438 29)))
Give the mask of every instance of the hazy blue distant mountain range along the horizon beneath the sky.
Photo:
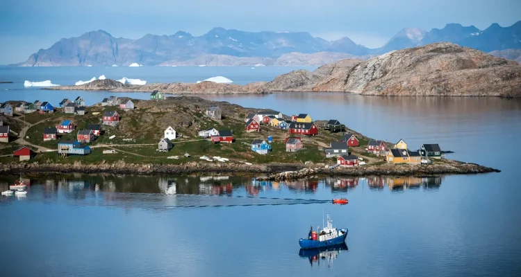
MULTIPOLYGON (((113 37, 104 30, 84 33, 79 37, 63 38, 48 49, 40 49, 19 66, 128 66, 138 63, 156 65, 199 65, 205 61, 227 57, 224 62, 208 65, 254 65, 258 58, 267 58, 267 64, 301 65, 331 62, 328 55, 368 58, 389 51, 422 46, 433 42, 452 42, 484 52, 521 48, 521 21, 512 26, 492 24, 485 30, 474 26, 447 24, 429 32, 418 28, 404 28, 380 48, 367 48, 349 37, 327 41, 306 32, 247 32, 213 28, 201 36, 179 31, 174 35, 144 35, 139 39, 113 37), (280 60, 292 53, 306 57, 299 63, 280 60), (320 55, 314 55, 320 53, 320 55), (328 54, 329 53, 329 54, 328 54), (308 54, 308 55, 304 55, 308 54), (312 55, 310 55, 312 54, 312 55), (201 57, 205 57, 202 59, 201 57), (251 59, 255 57, 256 59, 251 59), (320 57, 320 58, 317 58, 320 57), (321 60, 324 59, 324 60, 321 60), (231 60, 232 62, 226 62, 231 60), (271 61, 271 64, 270 64, 271 61)), ((221 59, 223 60, 223 59, 221 59)), ((261 62, 263 63, 263 62, 261 62)))

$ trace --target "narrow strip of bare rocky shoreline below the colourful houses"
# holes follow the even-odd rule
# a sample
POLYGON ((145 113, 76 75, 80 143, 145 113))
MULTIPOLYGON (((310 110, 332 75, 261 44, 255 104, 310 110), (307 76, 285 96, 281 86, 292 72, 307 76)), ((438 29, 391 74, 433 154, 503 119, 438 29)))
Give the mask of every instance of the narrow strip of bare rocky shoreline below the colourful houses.
POLYGON ((375 166, 359 166, 356 168, 327 169, 324 165, 302 165, 292 163, 246 165, 241 163, 197 163, 188 162, 181 165, 168 164, 138 164, 138 163, 99 163, 85 164, 75 162, 63 163, 6 163, 0 165, 3 175, 17 175, 19 173, 112 173, 129 175, 156 175, 156 174, 197 174, 197 173, 233 173, 237 175, 257 176, 258 180, 283 181, 303 179, 315 175, 321 176, 370 176, 370 175, 463 175, 487 172, 500 172, 495 168, 479 166, 475 163, 462 163, 445 160, 445 163, 435 163, 429 166, 393 165, 384 163, 375 166))

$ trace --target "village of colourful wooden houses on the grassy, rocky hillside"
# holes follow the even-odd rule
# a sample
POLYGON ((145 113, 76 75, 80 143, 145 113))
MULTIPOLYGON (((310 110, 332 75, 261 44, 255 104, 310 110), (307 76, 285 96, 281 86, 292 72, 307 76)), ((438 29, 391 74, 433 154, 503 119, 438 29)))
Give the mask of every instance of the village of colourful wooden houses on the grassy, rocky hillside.
POLYGON ((410 150, 403 139, 370 139, 336 119, 166 98, 158 91, 150 100, 110 96, 90 107, 81 96, 56 107, 8 101, 0 114, 2 162, 322 163, 334 172, 383 163, 429 166, 443 157, 438 144, 410 150))

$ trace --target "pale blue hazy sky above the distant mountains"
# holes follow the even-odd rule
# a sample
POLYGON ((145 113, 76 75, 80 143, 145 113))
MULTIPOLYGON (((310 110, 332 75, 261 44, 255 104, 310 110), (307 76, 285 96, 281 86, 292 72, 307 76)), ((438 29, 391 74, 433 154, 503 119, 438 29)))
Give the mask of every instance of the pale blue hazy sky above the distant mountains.
POLYGON ((132 39, 178 30, 202 35, 213 27, 292 30, 377 48, 405 27, 511 26, 520 10, 521 0, 1 0, 0 64, 99 29, 132 39))

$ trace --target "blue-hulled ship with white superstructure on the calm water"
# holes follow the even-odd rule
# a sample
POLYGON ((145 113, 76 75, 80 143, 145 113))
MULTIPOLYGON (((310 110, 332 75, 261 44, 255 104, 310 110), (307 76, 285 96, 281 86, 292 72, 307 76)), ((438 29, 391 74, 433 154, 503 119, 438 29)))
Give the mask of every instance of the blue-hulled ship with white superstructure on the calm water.
POLYGON ((347 238, 347 229, 333 228, 333 220, 327 215, 327 226, 322 230, 317 229, 317 231, 313 231, 313 227, 311 227, 308 238, 301 238, 299 244, 301 249, 331 247, 345 243, 345 238, 347 238))

